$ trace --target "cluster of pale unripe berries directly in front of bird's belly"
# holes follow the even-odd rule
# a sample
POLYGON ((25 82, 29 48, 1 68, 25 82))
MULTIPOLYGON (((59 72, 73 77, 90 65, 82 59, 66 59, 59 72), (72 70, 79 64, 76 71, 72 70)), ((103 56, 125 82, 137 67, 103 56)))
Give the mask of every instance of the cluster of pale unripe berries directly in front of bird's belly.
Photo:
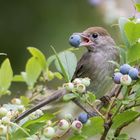
POLYGON ((90 79, 86 78, 76 78, 73 82, 64 83, 63 87, 69 92, 77 92, 84 93, 86 91, 86 87, 90 85, 90 79))

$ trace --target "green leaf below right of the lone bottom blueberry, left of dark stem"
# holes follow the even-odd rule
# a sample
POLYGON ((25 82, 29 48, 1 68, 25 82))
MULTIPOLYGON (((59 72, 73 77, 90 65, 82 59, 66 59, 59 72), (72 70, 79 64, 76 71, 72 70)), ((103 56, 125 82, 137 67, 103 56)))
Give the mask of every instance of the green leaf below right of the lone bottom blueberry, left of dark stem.
POLYGON ((104 121, 101 117, 92 117, 91 123, 84 125, 82 129, 82 135, 91 137, 97 134, 101 134, 104 130, 104 121))

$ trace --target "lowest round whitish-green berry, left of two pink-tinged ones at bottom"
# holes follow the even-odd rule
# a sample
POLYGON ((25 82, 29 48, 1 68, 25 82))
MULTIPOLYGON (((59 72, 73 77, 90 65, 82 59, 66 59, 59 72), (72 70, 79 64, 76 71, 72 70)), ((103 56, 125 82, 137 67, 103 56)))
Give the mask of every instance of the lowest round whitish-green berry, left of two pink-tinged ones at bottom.
POLYGON ((46 127, 43 134, 48 138, 52 138, 55 136, 55 129, 53 127, 46 127))

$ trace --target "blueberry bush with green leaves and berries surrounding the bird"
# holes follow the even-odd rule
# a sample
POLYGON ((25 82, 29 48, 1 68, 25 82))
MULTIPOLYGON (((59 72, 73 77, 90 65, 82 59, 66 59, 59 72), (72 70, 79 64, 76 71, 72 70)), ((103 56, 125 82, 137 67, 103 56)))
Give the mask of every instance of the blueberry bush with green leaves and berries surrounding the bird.
MULTIPOLYGON (((136 3, 135 8, 137 12, 140 12, 140 4, 136 3)), ((140 106, 140 19, 135 16, 121 17, 119 29, 124 42, 123 45, 118 46, 121 64, 116 64, 117 69, 112 76, 116 89, 113 94, 108 95, 107 102, 99 100, 94 93, 86 90, 90 85, 88 77, 76 78, 71 82, 77 64, 73 53, 75 49, 57 53, 52 47, 54 55, 46 59, 40 50, 28 47, 31 57, 27 60, 25 70, 19 75, 14 75, 10 60, 6 58, 0 67, 0 97, 14 94, 10 91, 12 82, 26 83, 26 93, 30 96, 22 95, 1 105, 0 139, 87 140, 96 135, 100 137, 100 140, 132 139, 122 130, 140 117, 138 109, 140 106), (55 64, 56 72, 51 71, 52 64, 55 64), (46 85, 54 78, 65 81, 59 87, 67 91, 62 96, 61 102, 78 100, 84 104, 83 112, 78 116, 69 113, 63 118, 58 118, 56 116, 60 113, 59 110, 36 109, 15 122, 14 120, 20 114, 31 108, 32 102, 38 95, 46 94, 48 90, 46 85), (92 112, 88 111, 88 108, 92 112)), ((79 43, 75 37, 71 37, 69 41, 75 46, 79 43)))

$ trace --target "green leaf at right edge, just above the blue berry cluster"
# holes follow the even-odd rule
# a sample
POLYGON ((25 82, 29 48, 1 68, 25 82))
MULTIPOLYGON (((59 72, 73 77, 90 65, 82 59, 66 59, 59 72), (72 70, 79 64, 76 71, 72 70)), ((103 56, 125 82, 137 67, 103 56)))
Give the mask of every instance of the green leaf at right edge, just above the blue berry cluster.
POLYGON ((129 63, 136 62, 140 59, 140 43, 133 45, 131 48, 128 48, 127 51, 127 61, 129 63))

